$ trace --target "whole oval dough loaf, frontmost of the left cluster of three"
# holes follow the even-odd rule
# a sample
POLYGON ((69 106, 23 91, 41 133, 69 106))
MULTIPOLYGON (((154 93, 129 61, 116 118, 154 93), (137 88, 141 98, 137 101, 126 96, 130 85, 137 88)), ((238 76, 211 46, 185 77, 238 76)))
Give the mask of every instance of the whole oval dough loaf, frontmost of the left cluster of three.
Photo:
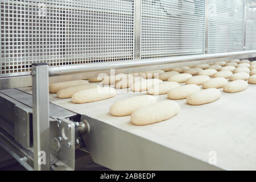
POLYGON ((117 92, 111 87, 97 87, 86 90, 81 90, 73 94, 71 101, 73 103, 81 104, 86 102, 95 102, 105 100, 107 98, 115 97, 117 92))

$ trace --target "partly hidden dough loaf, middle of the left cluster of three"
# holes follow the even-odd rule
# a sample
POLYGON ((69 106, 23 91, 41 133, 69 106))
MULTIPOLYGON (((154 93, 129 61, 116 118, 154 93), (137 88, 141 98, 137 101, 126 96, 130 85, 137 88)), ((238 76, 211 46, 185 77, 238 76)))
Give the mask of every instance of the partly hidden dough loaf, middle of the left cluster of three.
POLYGON ((58 98, 70 98, 75 94, 76 92, 79 92, 80 90, 90 89, 90 88, 96 88, 98 87, 97 84, 88 84, 88 85, 75 85, 75 86, 69 86, 63 89, 59 89, 57 92, 58 98))

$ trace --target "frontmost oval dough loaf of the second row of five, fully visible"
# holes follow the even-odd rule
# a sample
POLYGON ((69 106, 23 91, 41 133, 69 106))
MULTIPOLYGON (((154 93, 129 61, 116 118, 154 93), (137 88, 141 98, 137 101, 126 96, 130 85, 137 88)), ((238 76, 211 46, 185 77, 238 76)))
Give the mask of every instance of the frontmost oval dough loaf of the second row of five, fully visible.
POLYGON ((187 103, 190 105, 202 105, 218 100, 221 97, 220 90, 209 88, 199 92, 192 93, 187 97, 187 103))

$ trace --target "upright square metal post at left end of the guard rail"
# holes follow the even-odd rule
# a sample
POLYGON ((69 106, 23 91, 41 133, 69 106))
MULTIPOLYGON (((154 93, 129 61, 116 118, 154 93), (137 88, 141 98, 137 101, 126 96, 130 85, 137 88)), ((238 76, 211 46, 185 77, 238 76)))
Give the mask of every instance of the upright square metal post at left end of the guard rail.
POLYGON ((50 169, 49 79, 46 63, 32 64, 34 169, 50 169))

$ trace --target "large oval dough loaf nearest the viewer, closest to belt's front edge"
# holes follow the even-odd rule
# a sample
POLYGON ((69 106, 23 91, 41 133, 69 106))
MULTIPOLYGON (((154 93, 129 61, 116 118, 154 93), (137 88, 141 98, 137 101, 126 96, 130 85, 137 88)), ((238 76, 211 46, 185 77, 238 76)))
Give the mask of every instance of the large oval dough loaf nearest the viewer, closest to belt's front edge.
POLYGON ((131 123, 134 125, 148 125, 174 117, 180 111, 175 101, 161 101, 156 104, 142 107, 131 114, 131 123))

